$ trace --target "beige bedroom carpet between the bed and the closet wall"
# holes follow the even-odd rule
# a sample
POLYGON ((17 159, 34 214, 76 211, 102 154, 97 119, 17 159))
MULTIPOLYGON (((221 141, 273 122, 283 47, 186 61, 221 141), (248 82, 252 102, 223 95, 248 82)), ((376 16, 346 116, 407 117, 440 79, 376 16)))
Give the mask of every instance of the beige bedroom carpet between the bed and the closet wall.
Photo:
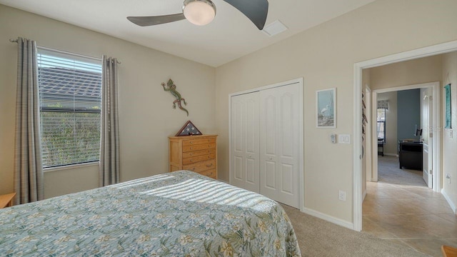
POLYGON ((421 257, 411 248, 380 240, 364 232, 323 221, 283 205, 295 229, 302 256, 318 257, 421 257))

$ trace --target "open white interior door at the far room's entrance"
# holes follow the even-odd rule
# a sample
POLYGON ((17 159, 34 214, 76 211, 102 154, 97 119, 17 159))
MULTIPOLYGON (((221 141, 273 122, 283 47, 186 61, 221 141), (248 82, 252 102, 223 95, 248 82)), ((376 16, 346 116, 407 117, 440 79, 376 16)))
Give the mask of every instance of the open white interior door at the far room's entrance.
POLYGON ((427 186, 433 186, 433 96, 431 89, 422 90, 422 138, 423 138, 423 171, 422 178, 427 186))

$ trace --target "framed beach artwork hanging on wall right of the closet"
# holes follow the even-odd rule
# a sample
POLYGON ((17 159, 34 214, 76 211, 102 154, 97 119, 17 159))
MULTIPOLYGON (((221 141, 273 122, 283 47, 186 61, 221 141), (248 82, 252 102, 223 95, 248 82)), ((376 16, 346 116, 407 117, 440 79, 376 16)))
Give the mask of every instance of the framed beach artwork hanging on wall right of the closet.
POLYGON ((336 128, 336 88, 316 91, 316 127, 336 128))

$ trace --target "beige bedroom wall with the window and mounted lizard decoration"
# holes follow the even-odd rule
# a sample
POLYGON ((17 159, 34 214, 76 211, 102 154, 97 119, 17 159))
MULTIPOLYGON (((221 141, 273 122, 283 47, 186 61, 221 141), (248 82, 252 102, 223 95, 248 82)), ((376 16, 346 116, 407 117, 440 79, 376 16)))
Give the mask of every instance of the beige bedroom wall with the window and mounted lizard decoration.
MULTIPOLYGON (((39 46, 89 56, 119 58, 121 180, 168 171, 168 136, 187 120, 214 133, 215 69, 94 31, 0 5, 0 194, 13 191, 16 44, 18 36, 39 46), (172 78, 188 105, 171 108, 173 96, 161 82, 172 78)), ((48 171, 46 198, 98 186, 98 167, 48 171)))

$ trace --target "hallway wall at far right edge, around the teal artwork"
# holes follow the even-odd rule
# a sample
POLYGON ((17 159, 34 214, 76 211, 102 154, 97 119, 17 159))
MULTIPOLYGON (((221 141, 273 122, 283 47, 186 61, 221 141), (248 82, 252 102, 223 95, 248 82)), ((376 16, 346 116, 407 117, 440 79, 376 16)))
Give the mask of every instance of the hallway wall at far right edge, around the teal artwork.
MULTIPOLYGON (((457 205, 457 111, 455 111, 457 110, 457 52, 443 56, 443 86, 449 83, 451 83, 451 127, 453 129, 443 131, 443 193, 448 196, 455 208, 457 205), (449 174, 451 179, 446 179, 446 174, 449 174)), ((444 94, 443 90, 442 127, 446 121, 444 94)))

